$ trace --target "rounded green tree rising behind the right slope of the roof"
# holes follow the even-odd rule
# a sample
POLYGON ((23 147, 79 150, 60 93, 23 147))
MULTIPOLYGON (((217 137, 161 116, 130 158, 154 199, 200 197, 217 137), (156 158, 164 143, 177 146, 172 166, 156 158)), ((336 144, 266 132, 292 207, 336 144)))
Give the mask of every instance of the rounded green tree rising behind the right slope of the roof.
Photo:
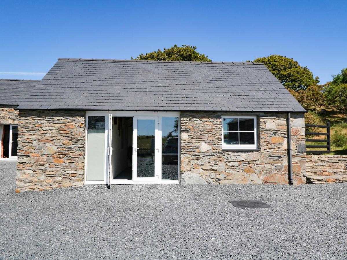
POLYGON ((319 83, 319 78, 313 78, 313 73, 307 67, 286 56, 271 55, 257 58, 254 62, 263 62, 287 89, 306 90, 308 86, 319 83))

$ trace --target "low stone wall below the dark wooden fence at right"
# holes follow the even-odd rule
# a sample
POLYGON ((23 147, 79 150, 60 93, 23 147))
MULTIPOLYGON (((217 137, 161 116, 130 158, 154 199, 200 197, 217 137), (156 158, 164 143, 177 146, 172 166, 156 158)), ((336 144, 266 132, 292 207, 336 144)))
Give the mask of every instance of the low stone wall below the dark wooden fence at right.
POLYGON ((306 155, 308 183, 347 182, 347 155, 306 155))

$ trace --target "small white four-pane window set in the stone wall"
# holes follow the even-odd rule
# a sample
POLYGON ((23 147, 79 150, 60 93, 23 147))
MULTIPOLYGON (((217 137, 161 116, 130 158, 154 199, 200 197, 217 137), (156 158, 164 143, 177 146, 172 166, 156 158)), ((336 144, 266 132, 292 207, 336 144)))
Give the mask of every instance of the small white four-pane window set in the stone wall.
POLYGON ((256 116, 223 116, 222 149, 247 150, 257 148, 256 116))

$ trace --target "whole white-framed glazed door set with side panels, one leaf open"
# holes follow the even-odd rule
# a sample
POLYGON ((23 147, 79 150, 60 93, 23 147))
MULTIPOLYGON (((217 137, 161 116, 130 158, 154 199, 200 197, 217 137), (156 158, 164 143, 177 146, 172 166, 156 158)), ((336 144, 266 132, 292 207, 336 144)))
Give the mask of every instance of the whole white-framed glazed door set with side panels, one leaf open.
POLYGON ((87 111, 84 183, 179 183, 179 147, 178 112, 87 111), (133 118, 132 142, 119 141, 123 128, 117 117, 133 118), (119 147, 129 149, 129 178, 117 179, 112 172, 119 165, 119 147))

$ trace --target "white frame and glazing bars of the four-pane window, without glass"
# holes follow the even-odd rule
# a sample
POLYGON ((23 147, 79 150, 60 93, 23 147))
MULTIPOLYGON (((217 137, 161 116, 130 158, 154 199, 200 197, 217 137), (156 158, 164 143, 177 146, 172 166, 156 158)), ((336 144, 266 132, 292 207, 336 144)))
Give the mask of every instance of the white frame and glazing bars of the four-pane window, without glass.
MULTIPOLYGON (((238 123, 240 124, 240 123, 238 123)), ((240 125, 238 126, 238 131, 226 131, 226 132, 249 132, 253 133, 253 131, 240 131, 240 125)), ((240 135, 239 135, 240 139, 240 135)), ((240 140, 239 140, 240 141, 240 140)), ((256 116, 222 116, 222 150, 256 150, 257 149, 257 117, 256 116), (225 118, 252 118, 254 119, 254 144, 224 144, 224 127, 223 121, 225 118)))

